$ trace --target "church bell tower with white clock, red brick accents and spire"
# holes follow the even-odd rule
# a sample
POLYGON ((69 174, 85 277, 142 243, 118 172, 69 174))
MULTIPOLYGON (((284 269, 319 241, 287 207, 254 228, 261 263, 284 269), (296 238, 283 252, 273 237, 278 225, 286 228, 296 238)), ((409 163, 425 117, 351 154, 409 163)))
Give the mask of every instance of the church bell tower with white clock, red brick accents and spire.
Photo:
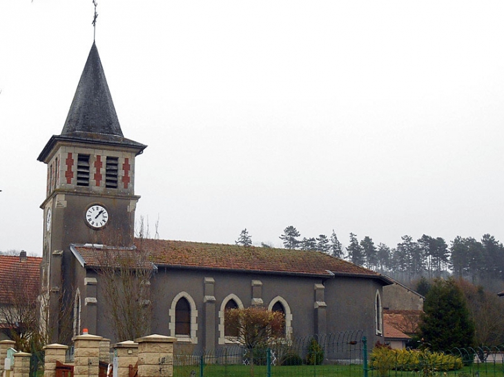
POLYGON ((70 245, 133 247, 135 156, 145 148, 122 133, 93 42, 63 130, 38 157, 48 167, 41 281, 50 310, 73 279, 70 245))

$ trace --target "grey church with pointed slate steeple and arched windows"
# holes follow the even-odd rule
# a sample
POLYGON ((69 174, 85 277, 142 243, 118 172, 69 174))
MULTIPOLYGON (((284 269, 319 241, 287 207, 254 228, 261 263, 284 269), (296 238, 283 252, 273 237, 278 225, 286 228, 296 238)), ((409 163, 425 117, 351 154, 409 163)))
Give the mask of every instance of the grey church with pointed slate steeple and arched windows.
POLYGON ((137 305, 150 311, 139 322, 196 350, 233 344, 224 312, 251 306, 282 312, 287 339, 361 330, 370 345, 382 340, 386 276, 322 252, 135 238, 135 159, 145 148, 124 137, 93 42, 61 134, 38 157, 47 165, 41 297, 52 341, 65 305, 70 337, 88 329, 133 340, 110 322, 106 272, 120 255, 148 272, 148 300, 137 305))

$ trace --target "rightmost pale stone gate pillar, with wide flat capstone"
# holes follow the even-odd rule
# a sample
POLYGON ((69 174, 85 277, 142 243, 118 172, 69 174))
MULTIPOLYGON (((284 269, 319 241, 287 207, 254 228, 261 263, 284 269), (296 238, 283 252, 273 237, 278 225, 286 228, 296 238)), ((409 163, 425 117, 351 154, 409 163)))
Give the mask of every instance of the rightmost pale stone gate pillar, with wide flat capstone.
POLYGON ((168 376, 173 376, 173 343, 176 341, 177 338, 173 336, 157 334, 135 339, 138 343, 138 377, 161 376, 161 358, 172 360, 171 367, 168 367, 168 376))

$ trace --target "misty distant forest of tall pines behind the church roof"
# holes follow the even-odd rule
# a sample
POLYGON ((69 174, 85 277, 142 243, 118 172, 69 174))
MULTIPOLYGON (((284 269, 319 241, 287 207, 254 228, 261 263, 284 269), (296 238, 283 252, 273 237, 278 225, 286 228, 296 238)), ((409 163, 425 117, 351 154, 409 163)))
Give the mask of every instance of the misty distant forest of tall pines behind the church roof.
MULTIPOLYGON (((236 243, 242 244, 244 232, 236 243)), ((504 246, 490 234, 484 234, 481 240, 457 236, 449 243, 444 238, 426 234, 417 240, 405 235, 395 247, 389 247, 384 243, 375 245, 369 236, 359 240, 356 234, 350 233, 349 244, 342 247, 334 230, 329 237, 319 234, 301 238, 291 225, 284 229, 280 239, 286 248, 318 250, 338 256, 387 274, 409 287, 415 287, 420 278, 454 276, 493 292, 504 290, 504 246)))

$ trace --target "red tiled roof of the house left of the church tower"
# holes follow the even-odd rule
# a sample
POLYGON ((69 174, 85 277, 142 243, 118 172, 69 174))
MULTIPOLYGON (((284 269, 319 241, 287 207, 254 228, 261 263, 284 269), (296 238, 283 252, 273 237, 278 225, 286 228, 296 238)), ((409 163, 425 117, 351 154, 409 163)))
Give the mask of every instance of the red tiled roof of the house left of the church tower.
POLYGON ((0 303, 11 302, 14 286, 39 292, 41 261, 38 256, 28 256, 26 262, 20 262, 19 256, 0 255, 0 303))

